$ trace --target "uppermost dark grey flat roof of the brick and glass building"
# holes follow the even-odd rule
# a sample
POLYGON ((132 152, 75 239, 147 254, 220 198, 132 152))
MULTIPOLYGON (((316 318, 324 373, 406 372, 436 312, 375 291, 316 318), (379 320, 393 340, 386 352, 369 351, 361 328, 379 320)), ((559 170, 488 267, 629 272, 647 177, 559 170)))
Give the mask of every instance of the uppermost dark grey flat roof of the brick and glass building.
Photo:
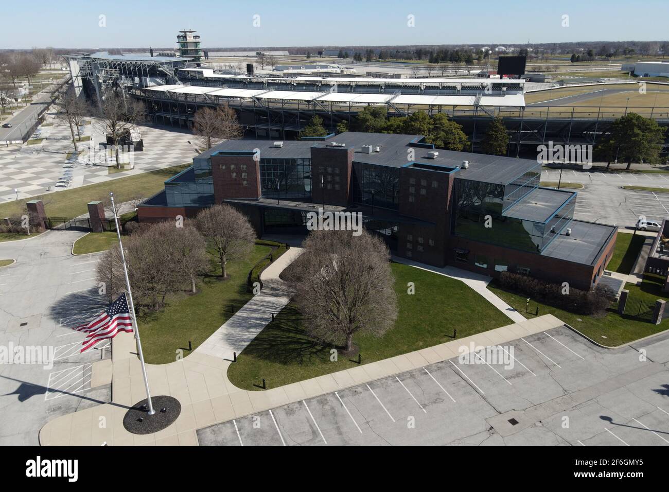
POLYGON ((390 167, 401 167, 411 161, 423 162, 446 167, 460 167, 462 161, 469 162, 469 169, 461 169, 458 178, 485 181, 486 183, 507 184, 520 175, 539 167, 537 161, 515 159, 496 155, 473 154, 468 152, 445 151, 415 147, 411 143, 421 143, 423 135, 396 135, 389 133, 344 132, 334 135, 326 141, 284 141, 283 147, 274 147, 271 140, 233 140, 225 141, 213 149, 199 155, 208 158, 218 151, 250 151, 260 149, 262 158, 308 158, 311 147, 328 147, 332 142, 343 143, 343 148, 355 149, 353 161, 390 167), (363 145, 380 147, 379 152, 363 153, 363 145), (409 153, 413 151, 413 156, 409 153), (436 159, 430 159, 428 152, 439 153, 436 159), (413 157, 413 158, 411 158, 413 157))

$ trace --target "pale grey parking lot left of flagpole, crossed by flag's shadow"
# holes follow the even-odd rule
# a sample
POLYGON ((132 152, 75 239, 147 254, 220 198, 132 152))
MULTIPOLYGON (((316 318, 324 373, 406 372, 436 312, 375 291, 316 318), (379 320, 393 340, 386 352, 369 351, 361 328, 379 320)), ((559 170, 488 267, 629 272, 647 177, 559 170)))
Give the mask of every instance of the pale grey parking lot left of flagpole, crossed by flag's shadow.
POLYGON ((0 269, 0 345, 53 350, 52 367, 0 364, 0 445, 37 445, 51 418, 110 400, 110 384, 91 388, 92 363, 108 341, 80 353, 85 334, 72 331, 104 309, 94 278, 98 257, 70 253, 82 235, 51 231, 0 243, 0 258, 17 260, 0 269))

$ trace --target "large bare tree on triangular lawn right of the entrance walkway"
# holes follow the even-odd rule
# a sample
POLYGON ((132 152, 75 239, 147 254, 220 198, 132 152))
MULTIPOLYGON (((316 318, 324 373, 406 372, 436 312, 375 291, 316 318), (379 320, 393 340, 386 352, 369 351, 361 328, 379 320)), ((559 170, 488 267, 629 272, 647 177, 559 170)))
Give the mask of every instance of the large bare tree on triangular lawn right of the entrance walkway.
POLYGON ((382 335, 393 327, 397 306, 390 254, 383 241, 363 232, 314 231, 304 253, 286 270, 310 336, 344 343, 353 351, 357 332, 382 335))

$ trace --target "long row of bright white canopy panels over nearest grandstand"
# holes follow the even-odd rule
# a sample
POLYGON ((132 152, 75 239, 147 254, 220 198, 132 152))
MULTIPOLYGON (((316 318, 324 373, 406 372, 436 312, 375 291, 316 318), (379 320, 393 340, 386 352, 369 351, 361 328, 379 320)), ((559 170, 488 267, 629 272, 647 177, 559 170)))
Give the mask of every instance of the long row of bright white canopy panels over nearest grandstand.
MULTIPOLYGON (((221 96, 226 98, 257 98, 267 100, 294 100, 319 102, 341 102, 343 104, 423 104, 431 106, 474 106, 476 96, 466 94, 434 95, 434 94, 365 94, 360 92, 314 92, 308 90, 266 90, 217 88, 205 86, 153 86, 148 90, 171 92, 173 94, 191 94, 221 96)), ((482 96, 480 106, 515 106, 524 107, 522 94, 505 94, 504 96, 482 96)))

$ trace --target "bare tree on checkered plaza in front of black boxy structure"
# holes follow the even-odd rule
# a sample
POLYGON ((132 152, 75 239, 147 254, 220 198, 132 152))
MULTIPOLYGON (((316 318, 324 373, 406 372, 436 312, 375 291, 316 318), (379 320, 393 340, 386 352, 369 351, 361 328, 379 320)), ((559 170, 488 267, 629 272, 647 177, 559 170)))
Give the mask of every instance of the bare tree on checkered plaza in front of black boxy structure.
POLYGON ((118 141, 144 120, 145 106, 138 100, 128 100, 116 92, 110 92, 104 96, 98 116, 100 128, 114 143, 116 167, 120 169, 118 141))

